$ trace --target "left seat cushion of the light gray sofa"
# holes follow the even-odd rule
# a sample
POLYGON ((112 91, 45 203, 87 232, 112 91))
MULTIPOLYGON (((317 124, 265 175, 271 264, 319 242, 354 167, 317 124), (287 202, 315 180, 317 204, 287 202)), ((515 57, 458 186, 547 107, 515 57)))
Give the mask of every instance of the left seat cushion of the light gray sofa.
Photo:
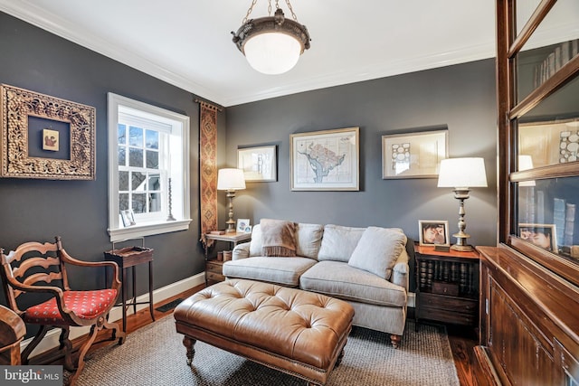
POLYGON ((286 287, 298 287, 299 276, 316 264, 308 258, 266 258, 254 257, 230 260, 223 263, 223 275, 226 278, 247 278, 267 281, 286 287))

